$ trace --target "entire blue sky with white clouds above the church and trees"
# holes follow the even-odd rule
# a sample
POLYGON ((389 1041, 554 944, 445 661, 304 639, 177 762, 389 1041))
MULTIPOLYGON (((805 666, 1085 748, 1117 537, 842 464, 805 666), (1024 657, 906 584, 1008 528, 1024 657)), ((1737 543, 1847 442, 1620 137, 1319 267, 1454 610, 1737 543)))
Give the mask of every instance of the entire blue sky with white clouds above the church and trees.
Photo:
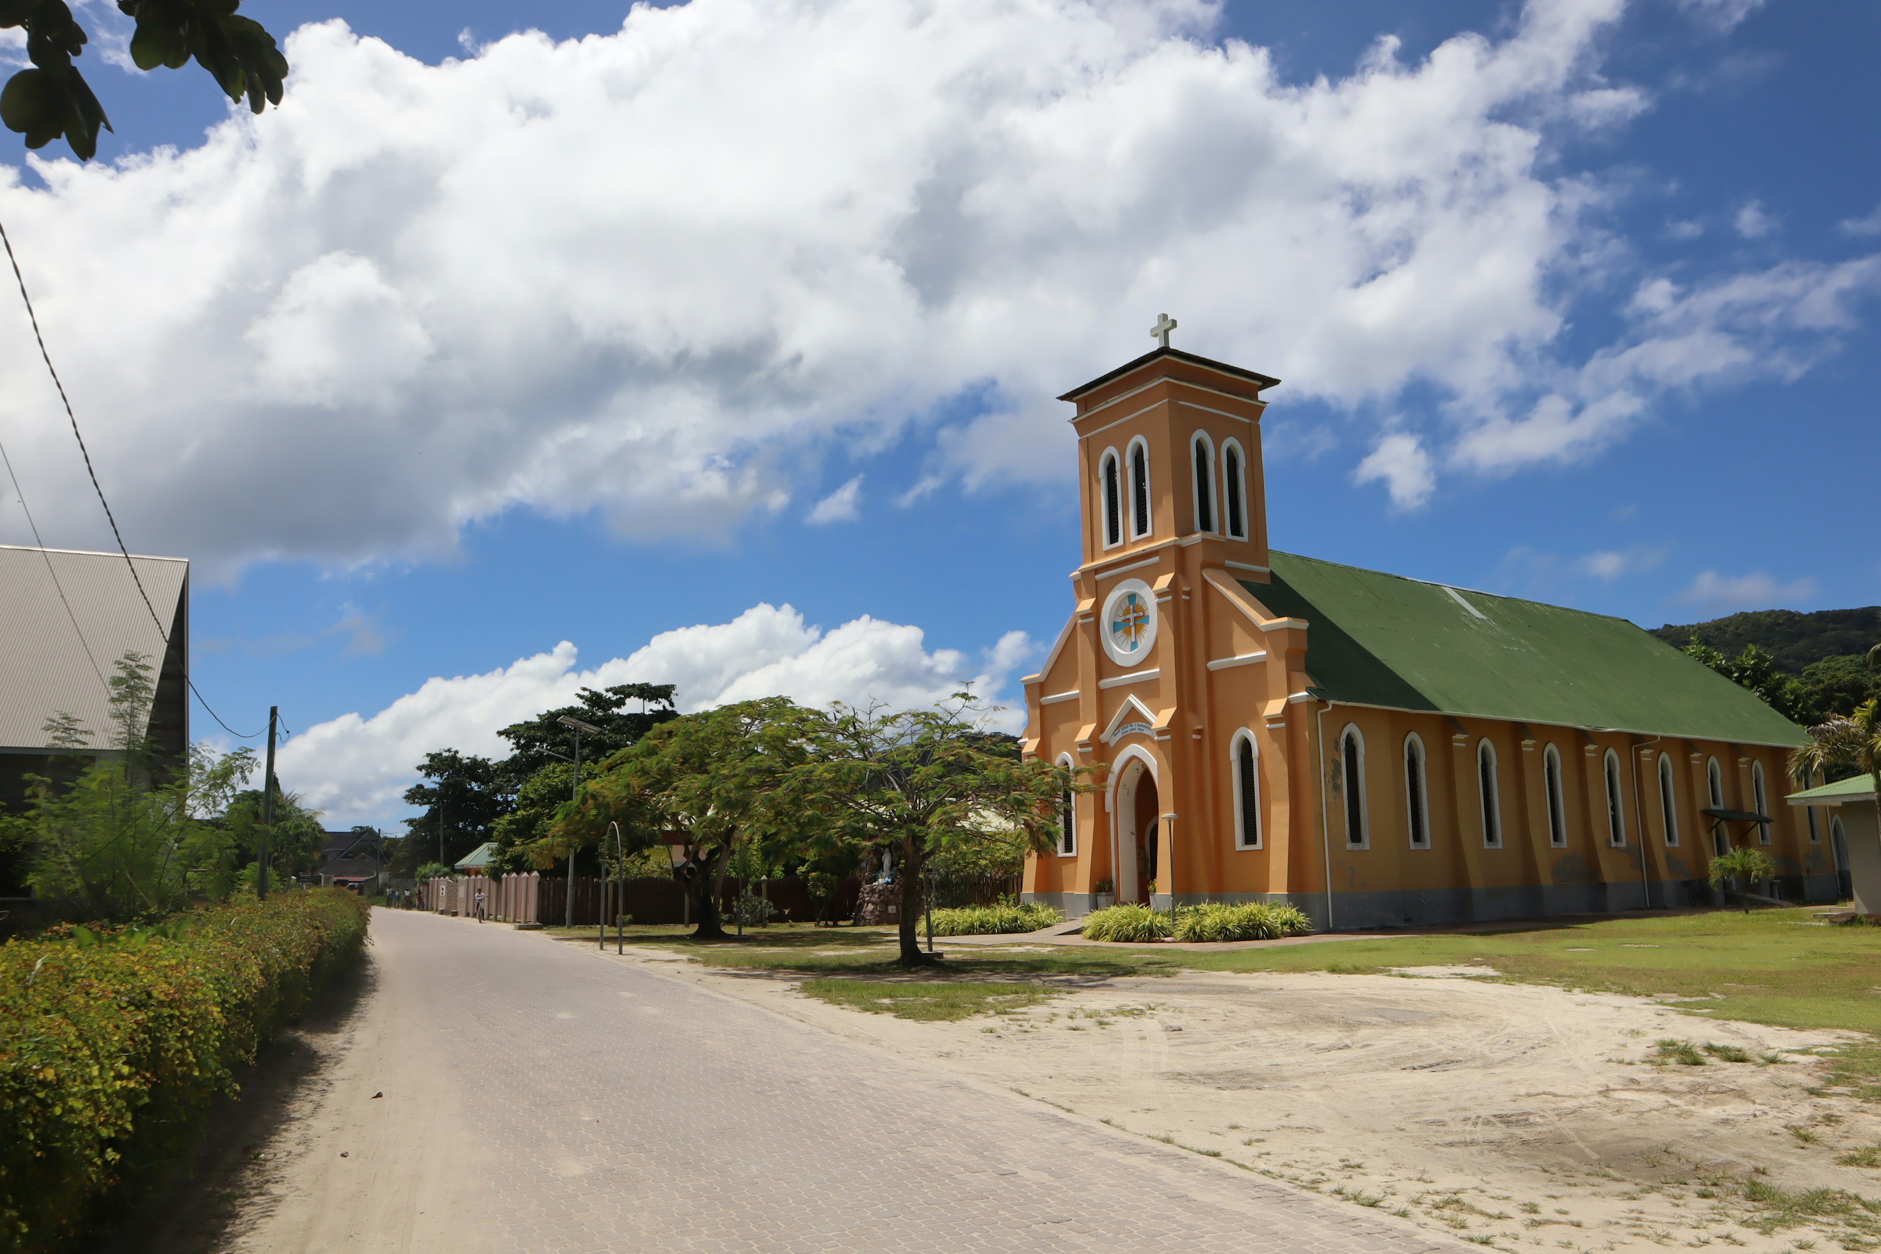
MULTIPOLYGON (((1162 308, 1287 380, 1279 549, 1644 626, 1881 600, 1881 9, 988 0, 922 45, 807 8, 529 6, 581 53, 514 6, 250 0, 410 60, 310 36, 226 122, 100 39, 94 167, 9 152, 128 541, 196 560, 199 688, 278 703, 333 822, 564 699, 559 641, 694 705, 1014 698, 1078 560, 1051 397, 1162 308)), ((47 543, 100 545, 13 321, 0 438, 47 543)))

